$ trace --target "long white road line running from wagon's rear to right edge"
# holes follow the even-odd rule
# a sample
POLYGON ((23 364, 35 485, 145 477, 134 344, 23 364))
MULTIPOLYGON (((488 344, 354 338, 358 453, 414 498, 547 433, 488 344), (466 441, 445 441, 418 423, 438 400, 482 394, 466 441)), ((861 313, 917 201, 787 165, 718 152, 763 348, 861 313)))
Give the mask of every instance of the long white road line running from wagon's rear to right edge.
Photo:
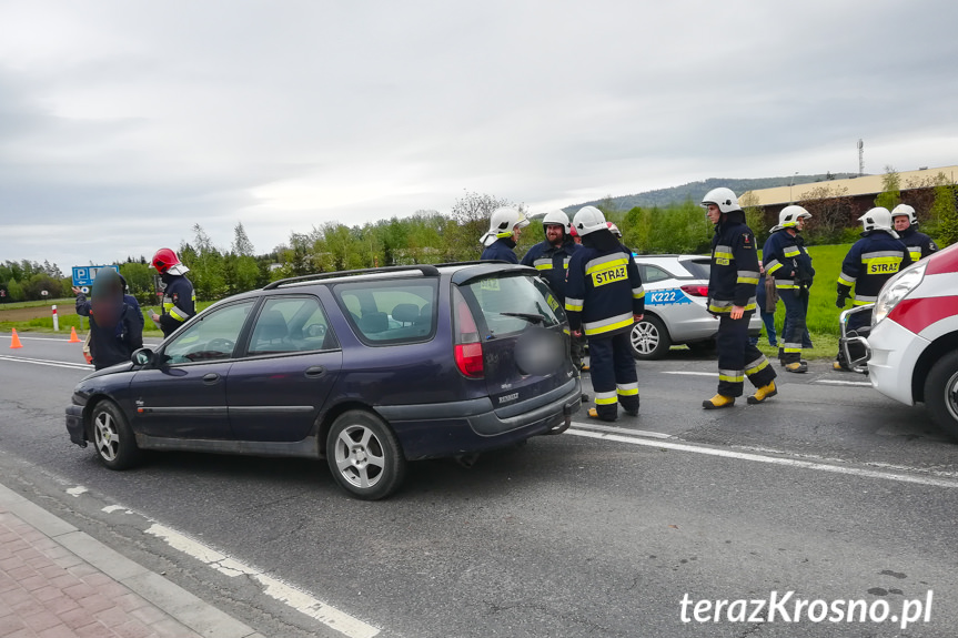
POLYGON ((797 458, 781 458, 778 456, 765 456, 760 454, 750 454, 746 452, 733 452, 730 449, 720 449, 714 447, 704 447, 687 443, 672 443, 668 440, 649 440, 647 438, 638 438, 635 436, 621 436, 617 434, 603 434, 598 432, 587 432, 584 429, 568 428, 566 434, 574 436, 584 436, 586 438, 601 438, 605 440, 614 440, 616 443, 628 443, 631 445, 643 445, 646 447, 658 447, 665 449, 675 449, 677 452, 690 452, 694 454, 705 454, 707 456, 720 456, 724 458, 736 458, 739 460, 753 460, 757 463, 768 463, 773 465, 785 465, 788 467, 801 467, 805 469, 816 469, 819 472, 834 472, 836 474, 847 474, 850 476, 860 476, 865 478, 884 478, 888 480, 898 480, 900 483, 916 483, 918 485, 930 485, 934 487, 958 487, 958 480, 948 478, 935 478, 930 476, 912 476, 907 474, 893 474, 890 472, 879 472, 876 469, 866 469, 863 467, 844 467, 840 465, 830 465, 827 463, 817 463, 813 460, 801 460, 797 458))

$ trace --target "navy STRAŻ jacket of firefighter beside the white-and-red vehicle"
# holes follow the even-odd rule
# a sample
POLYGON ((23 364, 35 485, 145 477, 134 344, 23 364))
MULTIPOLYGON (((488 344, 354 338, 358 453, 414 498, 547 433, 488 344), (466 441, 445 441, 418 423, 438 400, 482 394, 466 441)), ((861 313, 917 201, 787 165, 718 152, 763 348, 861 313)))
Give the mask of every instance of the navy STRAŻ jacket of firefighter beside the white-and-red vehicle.
POLYGON ((839 296, 848 296, 855 286, 853 305, 860 306, 878 301, 885 282, 911 263, 908 247, 886 231, 869 231, 855 242, 838 277, 839 296))

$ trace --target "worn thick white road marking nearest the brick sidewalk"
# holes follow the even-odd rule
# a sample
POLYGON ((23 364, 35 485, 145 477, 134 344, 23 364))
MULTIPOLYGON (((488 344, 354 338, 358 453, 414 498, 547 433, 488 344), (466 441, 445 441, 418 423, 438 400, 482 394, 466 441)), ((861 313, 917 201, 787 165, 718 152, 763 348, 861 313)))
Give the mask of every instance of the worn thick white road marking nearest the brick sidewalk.
POLYGON ((373 638, 380 630, 367 625, 349 614, 340 611, 335 607, 316 599, 311 594, 288 585, 282 580, 265 575, 261 569, 255 569, 216 551, 212 547, 193 540, 179 531, 163 525, 153 524, 147 529, 147 534, 167 541, 167 544, 193 558, 205 563, 216 571, 234 578, 248 576, 263 586, 263 593, 271 598, 284 602, 293 609, 305 614, 335 629, 349 638, 373 638))

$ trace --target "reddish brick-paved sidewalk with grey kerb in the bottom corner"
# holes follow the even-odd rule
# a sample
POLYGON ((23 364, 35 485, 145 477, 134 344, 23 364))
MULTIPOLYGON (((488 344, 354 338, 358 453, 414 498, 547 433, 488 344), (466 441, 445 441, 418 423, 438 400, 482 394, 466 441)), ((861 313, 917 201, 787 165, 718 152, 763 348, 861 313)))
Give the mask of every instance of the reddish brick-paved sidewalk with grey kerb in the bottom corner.
POLYGON ((263 638, 0 485, 0 637, 263 638))

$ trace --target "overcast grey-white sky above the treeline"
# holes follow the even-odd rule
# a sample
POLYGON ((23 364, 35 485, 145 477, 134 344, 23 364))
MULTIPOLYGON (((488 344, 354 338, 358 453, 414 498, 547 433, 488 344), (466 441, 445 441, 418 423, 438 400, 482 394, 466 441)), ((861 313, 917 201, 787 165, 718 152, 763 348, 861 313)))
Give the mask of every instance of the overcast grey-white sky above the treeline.
MULTIPOLYGON (((958 163, 954 0, 0 0, 0 262, 958 163)), ((704 194, 704 193, 703 193, 704 194)))

